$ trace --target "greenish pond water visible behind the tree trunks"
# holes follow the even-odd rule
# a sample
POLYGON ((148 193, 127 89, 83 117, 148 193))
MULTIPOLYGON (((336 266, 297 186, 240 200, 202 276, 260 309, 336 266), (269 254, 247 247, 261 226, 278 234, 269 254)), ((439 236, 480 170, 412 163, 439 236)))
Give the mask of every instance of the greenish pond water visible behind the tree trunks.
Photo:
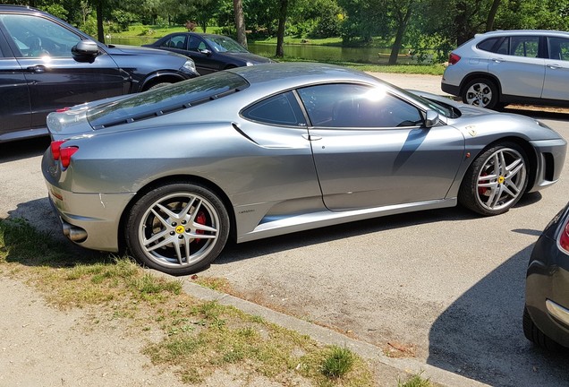
MULTIPOLYGON (((125 44, 131 46, 141 46, 149 44, 156 38, 131 37, 131 38, 110 38, 106 39, 107 44, 125 44)), ((276 45, 268 43, 250 43, 248 49, 253 54, 260 56, 274 57, 276 45)), ((352 62, 362 64, 387 64, 390 48, 370 48, 370 47, 335 47, 335 46, 315 46, 310 44, 285 45, 283 47, 285 56, 310 60, 314 62, 335 61, 352 62)), ((409 55, 400 55, 397 64, 416 64, 416 60, 409 55)))

